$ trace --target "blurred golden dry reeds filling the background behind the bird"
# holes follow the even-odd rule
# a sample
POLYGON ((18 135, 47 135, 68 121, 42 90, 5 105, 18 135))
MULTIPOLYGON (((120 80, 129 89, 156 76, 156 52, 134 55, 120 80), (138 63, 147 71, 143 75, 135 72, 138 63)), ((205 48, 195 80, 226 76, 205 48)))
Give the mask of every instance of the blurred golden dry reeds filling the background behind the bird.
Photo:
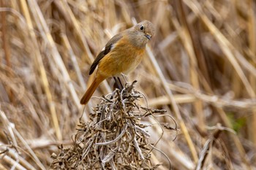
MULTIPOLYGON (((151 162, 256 169, 255 1, 0 2, 0 169, 49 169, 58 147, 72 145, 80 116, 87 121, 99 102, 79 104, 91 63, 111 36, 141 20, 156 35, 127 79, 178 125, 176 136, 159 125, 173 123, 168 117, 143 120, 151 143, 161 137, 151 162)), ((112 91, 109 79, 94 96, 112 91)))

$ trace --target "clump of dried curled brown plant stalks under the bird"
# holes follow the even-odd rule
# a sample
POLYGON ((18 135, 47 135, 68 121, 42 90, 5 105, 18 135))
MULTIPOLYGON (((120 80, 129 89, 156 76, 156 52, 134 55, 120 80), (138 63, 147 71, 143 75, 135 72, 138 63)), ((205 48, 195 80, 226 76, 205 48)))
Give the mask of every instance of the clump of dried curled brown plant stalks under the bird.
POLYGON ((53 155, 53 169, 157 169, 159 164, 151 163, 148 125, 140 120, 166 111, 140 107, 143 94, 134 83, 102 96, 91 121, 80 121, 72 147, 61 146, 53 155))

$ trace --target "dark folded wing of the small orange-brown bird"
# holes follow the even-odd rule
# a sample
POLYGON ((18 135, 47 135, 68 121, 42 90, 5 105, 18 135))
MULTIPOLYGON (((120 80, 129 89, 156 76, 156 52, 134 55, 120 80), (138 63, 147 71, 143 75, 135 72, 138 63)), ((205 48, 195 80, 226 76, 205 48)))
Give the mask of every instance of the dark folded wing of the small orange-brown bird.
POLYGON ((107 43, 107 45, 105 45, 105 50, 102 50, 99 55, 97 55, 97 58, 95 58, 94 63, 91 64, 91 68, 89 71, 89 75, 91 75, 94 72, 94 69, 97 67, 97 65, 99 64, 99 61, 108 53, 110 53, 111 48, 113 47, 114 44, 116 44, 116 42, 118 42, 119 39, 121 39, 122 34, 116 34, 116 36, 113 36, 112 39, 110 39, 107 43))

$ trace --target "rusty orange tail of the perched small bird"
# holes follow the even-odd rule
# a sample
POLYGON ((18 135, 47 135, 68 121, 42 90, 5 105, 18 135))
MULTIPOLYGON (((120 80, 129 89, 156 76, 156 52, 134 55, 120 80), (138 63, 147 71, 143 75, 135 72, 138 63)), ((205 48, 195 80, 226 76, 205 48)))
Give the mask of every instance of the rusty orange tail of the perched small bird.
POLYGON ((99 86, 99 83, 105 80, 105 77, 95 77, 94 81, 91 83, 90 87, 86 90, 86 93, 80 100, 80 104, 87 104, 90 100, 91 96, 93 95, 94 91, 99 86))

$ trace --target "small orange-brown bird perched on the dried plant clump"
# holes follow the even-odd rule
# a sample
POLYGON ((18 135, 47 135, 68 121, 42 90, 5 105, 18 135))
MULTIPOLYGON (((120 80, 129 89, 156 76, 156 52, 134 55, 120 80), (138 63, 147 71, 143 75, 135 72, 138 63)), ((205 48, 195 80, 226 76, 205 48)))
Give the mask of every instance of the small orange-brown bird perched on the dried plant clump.
POLYGON ((103 80, 132 72, 142 60, 146 44, 152 36, 154 36, 154 26, 148 20, 143 20, 113 36, 91 65, 89 75, 98 66, 96 77, 81 98, 80 104, 88 103, 103 80))

